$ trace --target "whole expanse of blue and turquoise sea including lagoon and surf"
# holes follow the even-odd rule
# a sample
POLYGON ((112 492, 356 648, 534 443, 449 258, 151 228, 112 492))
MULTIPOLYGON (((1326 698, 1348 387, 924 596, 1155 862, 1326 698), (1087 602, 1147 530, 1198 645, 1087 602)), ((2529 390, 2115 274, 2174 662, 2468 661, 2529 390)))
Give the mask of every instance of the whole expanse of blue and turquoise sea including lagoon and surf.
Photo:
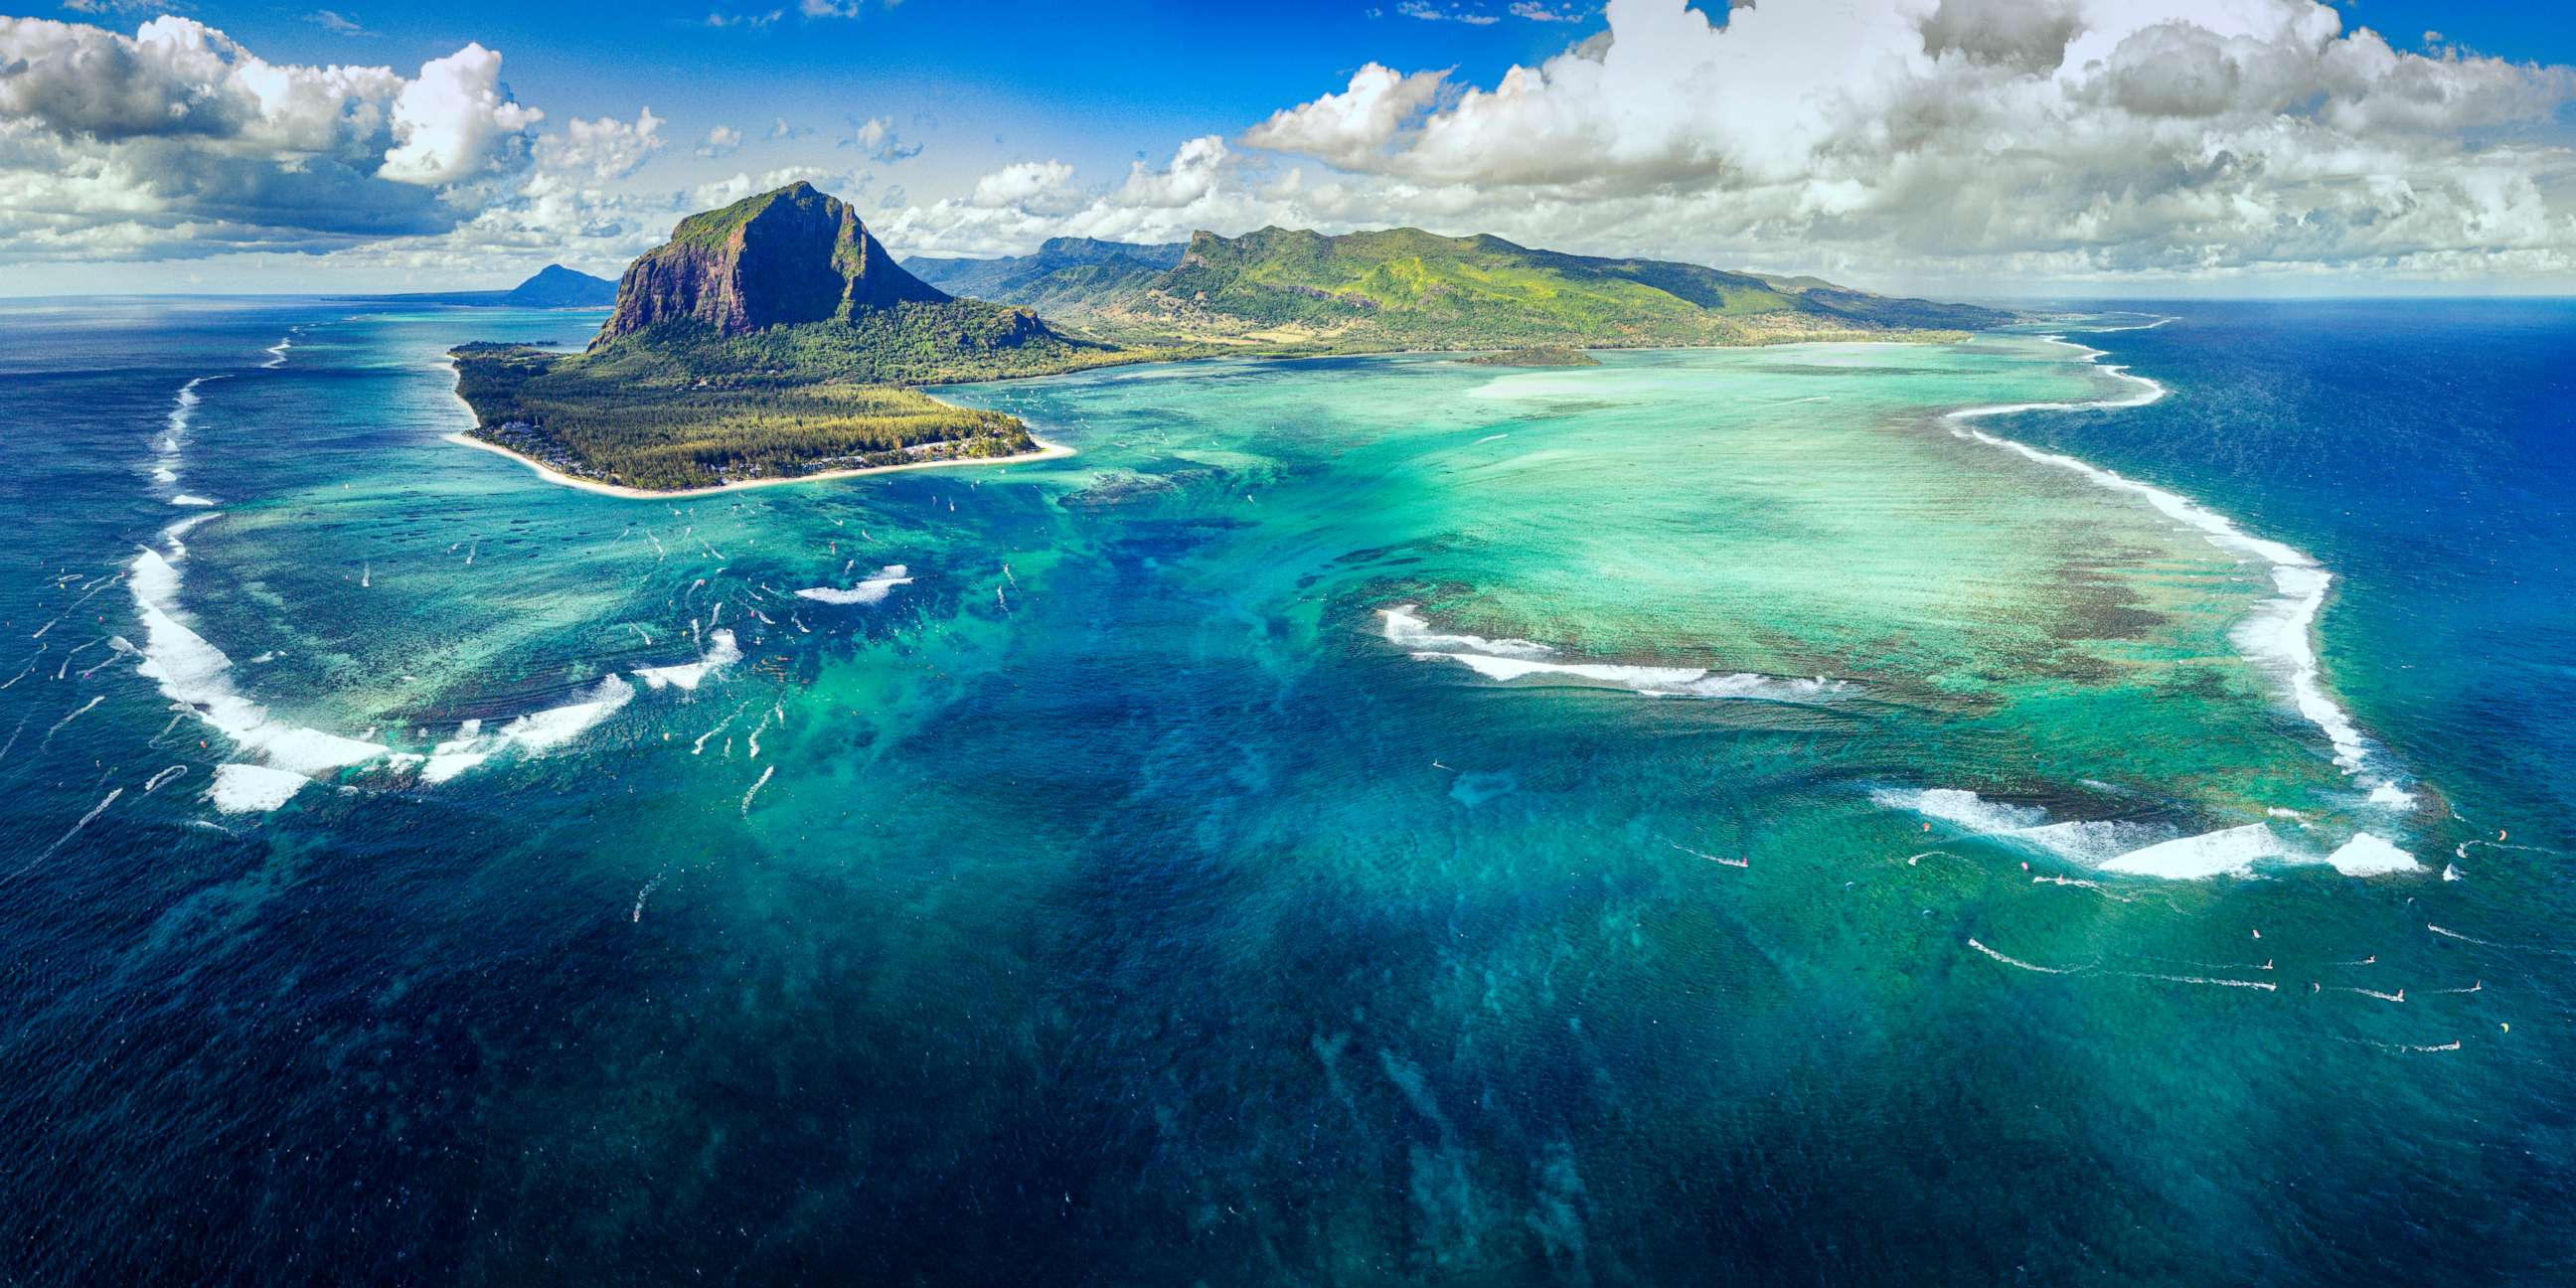
POLYGON ((595 322, 0 319, 5 1278, 2576 1275, 2576 307, 446 440, 595 322))

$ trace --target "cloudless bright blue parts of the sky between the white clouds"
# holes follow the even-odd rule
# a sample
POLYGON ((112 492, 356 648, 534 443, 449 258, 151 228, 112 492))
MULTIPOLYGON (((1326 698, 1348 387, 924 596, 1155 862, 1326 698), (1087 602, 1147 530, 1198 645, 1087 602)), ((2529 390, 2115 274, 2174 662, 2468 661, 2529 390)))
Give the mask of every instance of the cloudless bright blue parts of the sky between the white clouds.
MULTIPOLYGON (((366 33, 314 21, 327 5, 224 5, 191 13, 270 62, 420 64, 466 41, 505 54, 520 98, 549 111, 631 116, 652 106, 675 137, 788 118, 835 131, 850 116, 894 116, 925 144, 927 167, 1061 157, 1074 165, 1170 152, 1175 139, 1231 134, 1280 106, 1334 90, 1365 62, 1455 67, 1492 85, 1602 31, 1597 5, 1553 5, 1571 21, 1510 18, 1504 3, 1087 5, 994 0, 868 3, 855 18, 804 18, 793 0, 716 5, 510 5, 466 0, 420 10, 340 0, 330 10, 366 33), (711 28, 708 15, 783 15, 711 28), (1455 15, 1494 18, 1489 23, 1455 15), (935 152, 933 152, 935 147, 935 152)), ((1795 3, 1795 0, 1783 0, 1795 3)), ((1692 5, 1721 15, 1723 8, 1692 5)), ((2424 31, 2509 59, 2576 62, 2576 5, 2398 3, 2339 5, 2401 49, 2424 31)), ((113 26, 113 23, 111 23, 113 26)), ((750 147, 765 157, 804 147, 750 147)))

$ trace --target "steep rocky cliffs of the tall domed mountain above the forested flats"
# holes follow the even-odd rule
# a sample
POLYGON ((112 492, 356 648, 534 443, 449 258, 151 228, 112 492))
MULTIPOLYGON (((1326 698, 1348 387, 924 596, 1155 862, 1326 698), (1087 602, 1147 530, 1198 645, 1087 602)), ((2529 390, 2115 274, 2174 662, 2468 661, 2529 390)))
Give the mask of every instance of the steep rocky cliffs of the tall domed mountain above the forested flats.
POLYGON ((835 196, 793 183, 680 222, 618 281, 618 307, 592 348, 667 322, 744 335, 848 319, 948 294, 904 273, 835 196))

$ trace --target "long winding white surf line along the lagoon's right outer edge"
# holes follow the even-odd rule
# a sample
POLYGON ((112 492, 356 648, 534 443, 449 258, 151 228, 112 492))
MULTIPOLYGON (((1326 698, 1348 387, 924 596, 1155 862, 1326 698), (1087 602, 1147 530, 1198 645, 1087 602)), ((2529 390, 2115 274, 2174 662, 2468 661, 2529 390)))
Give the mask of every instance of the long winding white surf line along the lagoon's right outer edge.
MULTIPOLYGON (((2105 350, 2099 348, 2076 345, 2058 335, 2050 335, 2048 340, 2081 350, 2087 358, 2097 361, 2094 366, 2123 381, 2138 384, 2141 392, 2128 399, 2014 402, 1996 407, 1963 407, 1958 412, 1950 412, 1945 420, 1968 422, 2012 412, 2092 412, 2092 410, 2146 407, 2166 394, 2164 384, 2148 376, 2136 376, 2128 371, 2128 366, 2099 363, 2099 358, 2105 355, 2105 350)), ((2362 739, 2362 732, 2352 724, 2352 716, 2334 698, 2326 696, 2324 667, 2316 659, 2316 644, 2311 634, 2316 629, 2316 613, 2326 605, 2326 587, 2334 585, 2334 574, 2326 572, 2313 556, 2293 546, 2285 546, 2280 541, 2246 533, 2231 518, 2179 492, 2143 484, 2117 471, 2094 466, 2089 461, 2079 461, 2074 456, 2063 456, 2056 451, 2040 451, 2027 443, 2017 443, 2012 438, 1996 438, 1984 430, 1958 428, 1953 433, 1958 433, 1960 438, 1973 438, 1986 446, 2017 451, 2040 464, 2076 471, 2099 487, 2154 505, 2166 518, 2200 531, 2202 536, 2210 538, 2213 546, 2223 551, 2249 554, 2254 559, 2272 564, 2272 585, 2275 590, 2280 590, 2280 598, 2259 605, 2254 616, 2246 618, 2233 631, 2236 647, 2244 649, 2246 657, 2257 662, 2269 662, 2287 672, 2290 698, 2298 706, 2298 714, 2326 734, 2326 742, 2334 744, 2336 768, 2342 768, 2347 778, 2354 778, 2362 786, 2367 786, 2375 804, 2391 804, 2391 806, 2414 804, 2414 796, 2409 796, 2385 775, 2365 775, 2370 760, 2370 744, 2362 739)))

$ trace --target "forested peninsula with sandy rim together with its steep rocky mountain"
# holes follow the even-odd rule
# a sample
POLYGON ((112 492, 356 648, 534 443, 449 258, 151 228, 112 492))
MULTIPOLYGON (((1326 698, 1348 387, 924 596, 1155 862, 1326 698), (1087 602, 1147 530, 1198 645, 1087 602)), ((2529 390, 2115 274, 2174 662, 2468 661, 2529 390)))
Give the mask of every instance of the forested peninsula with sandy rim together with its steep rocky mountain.
POLYGON ((948 296, 806 183, 683 219, 626 268, 582 353, 451 350, 474 438, 657 492, 1025 456, 1038 443, 1015 417, 907 386, 1144 355, 948 296))

